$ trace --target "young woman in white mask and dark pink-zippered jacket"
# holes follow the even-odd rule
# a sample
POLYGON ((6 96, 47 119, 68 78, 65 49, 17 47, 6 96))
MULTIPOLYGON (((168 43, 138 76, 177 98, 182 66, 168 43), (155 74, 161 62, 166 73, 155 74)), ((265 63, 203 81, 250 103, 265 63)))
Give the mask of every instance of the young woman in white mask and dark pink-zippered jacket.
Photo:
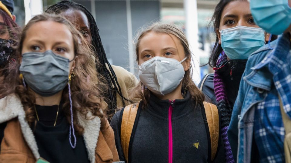
POLYGON ((204 102, 192 81, 183 31, 172 24, 152 24, 138 35, 135 52, 140 83, 132 100, 141 101, 118 111, 111 121, 120 160, 215 162, 223 149, 218 110, 204 102))

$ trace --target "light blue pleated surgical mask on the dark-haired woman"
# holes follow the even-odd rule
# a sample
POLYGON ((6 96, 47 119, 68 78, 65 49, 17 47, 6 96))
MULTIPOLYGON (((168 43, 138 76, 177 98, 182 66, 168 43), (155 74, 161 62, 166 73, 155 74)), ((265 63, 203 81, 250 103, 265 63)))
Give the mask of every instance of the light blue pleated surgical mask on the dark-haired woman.
POLYGON ((261 28, 237 26, 219 32, 221 47, 229 59, 248 59, 265 44, 265 33, 261 28))

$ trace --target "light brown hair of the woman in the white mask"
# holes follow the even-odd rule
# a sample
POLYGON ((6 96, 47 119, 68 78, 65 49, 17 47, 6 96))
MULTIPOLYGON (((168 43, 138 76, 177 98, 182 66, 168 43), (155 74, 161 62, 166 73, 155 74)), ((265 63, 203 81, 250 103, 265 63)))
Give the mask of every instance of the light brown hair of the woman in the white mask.
MULTIPOLYGON (((135 53, 136 53, 136 61, 139 62, 139 43, 143 36, 145 36, 149 32, 156 32, 159 34, 172 34, 175 37, 177 37, 185 51, 185 56, 192 61, 192 55, 189 48, 189 43, 187 41, 186 35, 184 32, 179 29, 174 24, 164 24, 164 23, 154 23, 150 25, 149 27, 146 27, 146 29, 141 29, 139 34, 135 38, 135 53)), ((203 104, 203 101, 205 100, 204 94, 198 89, 198 87, 194 84, 192 80, 192 65, 190 64, 189 70, 185 72, 184 78, 182 80, 182 89, 184 89, 184 92, 189 92, 191 99, 196 102, 196 104, 203 104)), ((131 93, 130 100, 134 102, 138 102, 140 100, 143 101, 142 105, 143 107, 146 106, 148 100, 149 100, 149 89, 146 89, 146 86, 139 82, 139 85, 137 85, 131 93)), ((193 102, 193 101, 192 101, 193 102)))

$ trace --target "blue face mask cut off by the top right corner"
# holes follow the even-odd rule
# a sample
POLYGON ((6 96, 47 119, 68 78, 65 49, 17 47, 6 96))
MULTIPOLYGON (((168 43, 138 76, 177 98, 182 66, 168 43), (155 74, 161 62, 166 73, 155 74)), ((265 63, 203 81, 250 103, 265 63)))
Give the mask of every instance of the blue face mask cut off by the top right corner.
POLYGON ((291 24, 288 0, 250 0, 256 24, 270 34, 282 34, 291 24))

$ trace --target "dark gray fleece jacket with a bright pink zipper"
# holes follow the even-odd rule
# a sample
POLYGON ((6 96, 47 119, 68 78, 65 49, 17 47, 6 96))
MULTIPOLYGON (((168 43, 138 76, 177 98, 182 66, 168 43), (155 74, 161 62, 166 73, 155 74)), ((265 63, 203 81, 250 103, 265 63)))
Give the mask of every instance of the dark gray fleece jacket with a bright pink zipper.
MULTIPOLYGON (((209 129, 203 105, 191 101, 187 93, 182 100, 172 104, 172 160, 174 163, 211 162, 209 129), (194 105, 193 105, 194 104, 194 105), (198 148, 193 144, 198 143, 198 148)), ((153 94, 149 103, 138 113, 129 142, 129 162, 169 162, 169 100, 160 100, 153 94)), ((119 158, 125 161, 120 141, 120 126, 123 109, 111 120, 119 158)), ((197 145, 197 144, 196 144, 197 145)), ((223 142, 219 140, 218 151, 213 162, 224 161, 223 142)))

